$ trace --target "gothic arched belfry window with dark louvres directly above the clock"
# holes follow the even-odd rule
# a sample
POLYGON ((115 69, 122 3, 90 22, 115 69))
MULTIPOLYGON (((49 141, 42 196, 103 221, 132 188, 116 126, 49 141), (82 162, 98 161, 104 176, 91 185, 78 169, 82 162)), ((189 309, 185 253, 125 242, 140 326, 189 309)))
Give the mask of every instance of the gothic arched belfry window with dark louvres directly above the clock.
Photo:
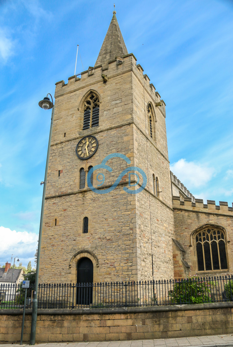
POLYGON ((99 97, 91 92, 84 101, 83 130, 99 125, 99 97))

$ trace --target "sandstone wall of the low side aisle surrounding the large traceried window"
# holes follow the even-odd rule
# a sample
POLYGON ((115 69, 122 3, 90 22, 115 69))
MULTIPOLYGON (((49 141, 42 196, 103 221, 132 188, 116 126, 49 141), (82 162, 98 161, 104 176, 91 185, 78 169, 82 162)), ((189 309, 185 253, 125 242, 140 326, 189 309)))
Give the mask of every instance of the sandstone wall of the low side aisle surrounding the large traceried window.
MULTIPOLYGON (((233 271, 233 209, 228 207, 227 202, 219 202, 215 205, 215 201, 207 200, 207 204, 203 204, 203 200, 195 199, 192 203, 191 198, 185 198, 184 202, 180 201, 180 197, 173 196, 173 210, 175 223, 175 239, 181 243, 185 249, 185 260, 191 266, 191 274, 203 276, 225 276, 232 274, 233 271), (198 271, 197 257, 195 254, 195 243, 193 234, 197 228, 210 224, 213 226, 223 227, 226 232, 226 253, 228 270, 198 271)), ((175 271, 178 268, 175 266, 175 271)))

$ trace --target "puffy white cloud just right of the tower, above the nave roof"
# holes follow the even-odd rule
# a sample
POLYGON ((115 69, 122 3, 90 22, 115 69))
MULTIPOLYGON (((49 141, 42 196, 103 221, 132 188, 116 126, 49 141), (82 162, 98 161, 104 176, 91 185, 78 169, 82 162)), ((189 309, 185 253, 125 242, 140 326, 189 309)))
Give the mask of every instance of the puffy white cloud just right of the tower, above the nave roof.
POLYGON ((214 168, 206 164, 195 163, 180 159, 170 165, 173 174, 188 188, 201 187, 211 180, 214 176, 214 168))

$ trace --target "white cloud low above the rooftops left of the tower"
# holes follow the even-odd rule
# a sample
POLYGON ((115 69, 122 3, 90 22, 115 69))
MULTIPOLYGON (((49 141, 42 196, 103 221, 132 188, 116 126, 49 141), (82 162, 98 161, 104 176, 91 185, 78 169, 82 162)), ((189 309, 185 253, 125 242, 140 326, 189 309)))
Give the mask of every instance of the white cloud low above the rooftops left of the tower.
POLYGON ((33 232, 10 230, 0 227, 0 264, 10 261, 11 254, 18 256, 19 260, 27 266, 34 263, 34 254, 38 245, 38 235, 33 232))

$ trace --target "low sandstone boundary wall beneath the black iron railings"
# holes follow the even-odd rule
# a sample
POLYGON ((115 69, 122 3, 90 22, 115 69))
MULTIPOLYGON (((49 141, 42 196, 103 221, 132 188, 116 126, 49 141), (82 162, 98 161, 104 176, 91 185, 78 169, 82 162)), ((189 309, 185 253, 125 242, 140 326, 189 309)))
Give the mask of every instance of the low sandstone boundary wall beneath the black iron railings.
MULTIPOLYGON (((0 310, 0 343, 20 340, 23 310, 0 310)), ((32 310, 26 310, 24 341, 32 310)), ((38 310, 36 342, 159 339, 233 333, 233 303, 38 310)))

